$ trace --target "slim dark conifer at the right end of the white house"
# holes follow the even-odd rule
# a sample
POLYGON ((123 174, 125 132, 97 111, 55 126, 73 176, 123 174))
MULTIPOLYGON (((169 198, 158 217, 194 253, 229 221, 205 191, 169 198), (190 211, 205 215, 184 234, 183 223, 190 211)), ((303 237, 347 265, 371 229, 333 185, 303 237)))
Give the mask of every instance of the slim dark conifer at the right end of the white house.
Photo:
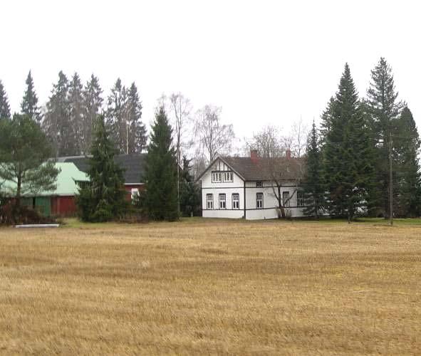
POLYGON ((311 135, 307 142, 306 173, 302 187, 306 206, 304 214, 318 219, 318 215, 321 209, 323 209, 325 189, 323 186, 321 151, 319 149, 318 134, 314 120, 311 135))

